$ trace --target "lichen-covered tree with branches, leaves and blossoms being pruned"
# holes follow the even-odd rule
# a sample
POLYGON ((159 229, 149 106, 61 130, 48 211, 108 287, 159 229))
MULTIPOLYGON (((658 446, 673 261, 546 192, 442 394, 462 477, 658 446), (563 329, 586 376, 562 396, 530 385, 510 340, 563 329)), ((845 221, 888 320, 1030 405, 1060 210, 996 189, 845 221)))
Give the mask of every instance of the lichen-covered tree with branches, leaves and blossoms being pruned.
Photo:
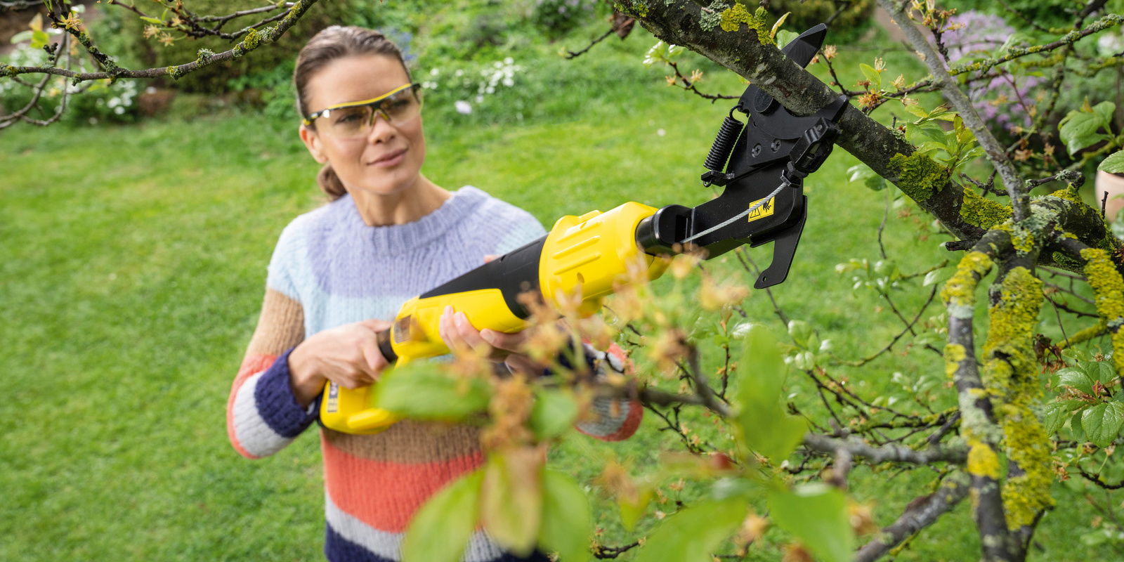
MULTIPOLYGON (((54 117, 29 117, 52 75, 79 82, 179 78, 277 40, 312 3, 285 4, 289 11, 283 15, 263 7, 261 17, 279 18, 273 20, 278 24, 269 26, 272 21, 263 19, 237 31, 242 35, 232 37, 238 42, 234 48, 200 52, 194 62, 143 71, 116 66, 82 31, 76 12, 52 6, 48 19, 65 28, 64 42, 49 47, 44 40, 51 57, 46 67, 2 69, 12 80, 29 74, 44 74, 46 80, 21 82, 37 89, 35 100, 0 124, 57 119, 64 102, 54 117), (92 57, 93 72, 67 67, 79 52, 76 46, 70 48, 73 42, 85 48, 83 56, 92 57)), ((862 3, 839 2, 832 17, 862 3)), ((954 239, 945 248, 966 252, 952 256, 959 264, 951 278, 944 280, 949 275, 941 263, 928 271, 903 273, 885 247, 878 263, 840 264, 841 273, 853 275, 856 288, 877 291, 901 323, 900 332, 885 347, 849 360, 832 353, 826 326, 808 325, 774 307, 789 338, 778 346, 763 327, 745 320, 753 317, 742 305, 745 292, 736 280, 713 274, 698 263, 698 256, 681 256, 671 265, 678 283, 670 294, 656 298, 637 281, 609 302, 607 323, 580 320, 574 310, 561 311, 577 333, 628 346, 637 362, 640 384, 588 381, 582 373, 563 369, 549 380, 493 381, 471 361, 460 363, 452 378, 422 365, 413 377, 399 373, 386 383, 387 406, 420 417, 453 413, 472 417, 472 411, 464 411, 465 405, 473 406, 469 408, 473 411, 491 413, 486 422, 490 427, 488 465, 419 514, 407 542, 408 555, 453 560, 459 545, 426 541, 427 531, 471 531, 482 520, 516 550, 540 543, 562 553, 563 560, 588 556, 584 522, 570 517, 582 510, 586 495, 569 477, 544 471, 538 451, 568 432, 599 395, 640 398, 650 415, 681 438, 686 450, 683 455, 667 456, 656 473, 641 481, 616 462, 606 462, 599 481, 614 493, 626 525, 633 525, 650 502, 662 497, 665 482, 682 487, 680 479, 695 480, 708 487, 706 499, 676 506, 678 513, 649 535, 637 560, 665 560, 669 553, 676 560, 706 560, 713 553, 752 556, 749 545, 762 538, 770 523, 798 541, 788 546, 794 560, 809 552, 823 560, 874 560, 969 496, 982 556, 1024 560, 1036 525, 1054 504, 1054 479, 1079 475, 1106 490, 1121 486, 1124 465, 1113 459, 1124 425, 1118 399, 1124 359, 1115 357, 1117 347, 1124 345, 1124 335, 1118 334, 1124 324, 1121 243, 1102 212, 1079 192, 1084 174, 1093 166, 1122 170, 1120 103, 1107 99, 1118 98, 1118 82, 1115 90, 1081 85, 1120 69, 1121 53, 1104 52, 1098 48, 1104 42, 1098 39, 1124 21, 1121 7, 1097 0, 1062 2, 1054 17, 1067 13, 1067 20, 1059 22, 1043 21, 1041 15, 1012 6, 1007 24, 1017 24, 1018 31, 998 44, 988 39, 972 45, 954 40, 966 22, 944 7, 890 1, 880 6, 905 34, 925 71, 914 71, 917 75, 909 78, 901 72, 889 80, 894 69, 871 60, 861 66, 864 80, 854 89, 840 83, 832 67, 837 52, 831 45, 816 64, 828 67, 834 84, 785 58, 777 46, 790 39, 794 30, 780 13, 770 15, 764 7, 686 0, 618 2, 610 29, 601 37, 614 31, 628 35, 629 20, 640 22, 661 39, 647 62, 669 65, 669 84, 713 102, 740 92, 700 91, 700 73, 680 72, 682 47, 726 66, 798 115, 814 112, 840 93, 852 98, 854 103, 840 124, 839 146, 864 165, 853 170, 854 182, 887 190, 886 215, 892 201, 904 196, 934 217, 933 235, 948 233, 954 239), (1030 82, 1039 87, 1033 92, 1030 82), (1005 92, 994 87, 997 83, 1010 88, 1005 92), (1075 90, 1089 99, 1067 106, 1067 92, 1075 90), (1000 97, 1001 101, 992 103, 1000 97), (1006 123, 987 120, 986 109, 997 106, 1005 109, 1006 123), (887 120, 889 126, 883 124, 887 120), (1059 189, 1049 192, 1053 187, 1059 189), (1040 194, 1032 196, 1034 190, 1040 194), (706 271, 691 281, 700 266, 706 271), (992 270, 985 317, 976 293, 992 270), (895 305, 896 291, 904 287, 928 296, 915 315, 895 305), (945 311, 923 320, 939 287, 945 311), (1040 317, 1051 316, 1043 310, 1045 300, 1057 317, 1053 326, 1040 323, 1040 317), (1073 326, 1081 329, 1067 336, 1066 328, 1073 326), (1062 336, 1057 343, 1041 333, 1055 329, 1062 336), (943 337, 936 339, 933 334, 943 337), (1103 342, 1103 348, 1089 347, 1089 342, 1103 342), (925 357, 913 360, 919 371, 916 377, 899 377, 913 404, 870 397, 850 388, 841 374, 907 345, 925 357), (814 386, 813 400, 782 395, 789 369, 814 386), (940 388, 944 375, 954 391, 940 388), (442 388, 444 392, 436 392, 442 388), (410 400, 420 393, 445 400, 422 408, 410 400), (692 408, 715 415, 710 419, 717 429, 692 430, 689 424, 706 418, 691 414, 692 408), (734 437, 733 443, 716 442, 727 436, 734 437), (933 475, 917 489, 916 500, 899 506, 896 520, 855 552, 854 532, 873 531, 869 507, 847 500, 849 474, 861 464, 878 471, 931 470, 933 475), (447 513, 466 515, 454 520, 442 515, 447 513)), ((197 17, 179 4, 165 8, 175 16, 140 16, 158 20, 153 22, 156 34, 226 33, 217 26, 198 30, 205 22, 221 22, 220 18, 197 17)), ((570 56, 583 52, 568 51, 570 56)), ((502 80, 502 75, 496 79, 502 80)), ((755 271, 749 253, 738 252, 736 259, 750 273, 755 271)), ((760 306, 762 300, 754 302, 760 306)), ((542 310, 541 320, 553 323, 554 316, 542 310)), ((532 352, 554 356, 564 352, 561 346, 566 341, 541 332, 532 352)), ((786 386, 791 390, 791 382, 786 386)), ((1103 525, 1112 529, 1104 540, 1118 543, 1122 528, 1107 498, 1090 501, 1104 509, 1103 525)), ((596 542, 592 554, 615 558, 635 552, 644 542, 636 538, 619 545, 596 542)))

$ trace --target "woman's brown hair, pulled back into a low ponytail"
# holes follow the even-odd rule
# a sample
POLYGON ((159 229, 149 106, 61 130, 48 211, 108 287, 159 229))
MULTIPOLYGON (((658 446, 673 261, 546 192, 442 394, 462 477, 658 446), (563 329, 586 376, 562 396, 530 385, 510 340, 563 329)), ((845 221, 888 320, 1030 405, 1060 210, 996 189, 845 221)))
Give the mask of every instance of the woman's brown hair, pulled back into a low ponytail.
MULTIPOLYGON (((300 54, 297 55, 297 67, 292 71, 292 83, 297 89, 297 112, 302 118, 309 114, 308 83, 312 76, 332 61, 354 55, 393 56, 402 64, 406 76, 410 75, 401 49, 381 33, 354 26, 327 27, 309 39, 305 48, 300 49, 300 54)), ((410 81, 413 82, 413 80, 410 81)), ((310 127, 315 129, 316 124, 314 123, 310 127)), ((325 164, 320 169, 320 173, 316 175, 316 182, 333 201, 347 193, 330 164, 325 164)))

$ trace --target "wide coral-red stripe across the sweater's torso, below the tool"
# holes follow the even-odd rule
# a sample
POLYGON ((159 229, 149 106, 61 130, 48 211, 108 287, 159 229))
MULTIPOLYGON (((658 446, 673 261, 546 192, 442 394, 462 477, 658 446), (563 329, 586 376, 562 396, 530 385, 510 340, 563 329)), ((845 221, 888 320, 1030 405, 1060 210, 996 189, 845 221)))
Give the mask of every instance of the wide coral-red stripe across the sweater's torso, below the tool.
POLYGON ((434 493, 484 462, 475 452, 448 461, 405 464, 352 456, 320 438, 324 486, 343 511, 379 531, 402 533, 434 493))

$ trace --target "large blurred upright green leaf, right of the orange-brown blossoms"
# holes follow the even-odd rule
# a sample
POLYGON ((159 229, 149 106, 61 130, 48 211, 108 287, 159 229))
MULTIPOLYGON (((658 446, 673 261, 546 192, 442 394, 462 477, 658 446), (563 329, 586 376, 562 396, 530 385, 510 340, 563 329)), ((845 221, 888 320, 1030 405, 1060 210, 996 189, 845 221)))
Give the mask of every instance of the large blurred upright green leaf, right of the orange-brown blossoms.
MULTIPOLYGON (((790 329, 798 321, 790 323, 790 329)), ((796 324, 796 330, 803 330, 799 324, 796 324)), ((812 329, 807 328, 805 342, 810 334, 812 329)), ((738 364, 741 411, 736 425, 741 428, 742 444, 779 463, 804 438, 807 423, 804 418, 788 415, 781 407, 780 393, 787 369, 777 341, 769 330, 761 326, 750 329, 738 364)))

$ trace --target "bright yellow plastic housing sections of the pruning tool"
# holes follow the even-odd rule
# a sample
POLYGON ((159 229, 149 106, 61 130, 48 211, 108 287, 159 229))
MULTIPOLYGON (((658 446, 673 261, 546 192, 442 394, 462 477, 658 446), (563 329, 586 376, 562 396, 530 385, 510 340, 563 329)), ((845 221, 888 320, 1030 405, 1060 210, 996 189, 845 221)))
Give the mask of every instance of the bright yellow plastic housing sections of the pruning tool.
MULTIPOLYGON (((628 280, 628 270, 646 268, 647 278, 663 274, 667 262, 645 254, 636 245, 636 227, 655 214, 654 207, 627 202, 607 212, 591 211, 580 217, 562 217, 546 236, 538 260, 538 282, 543 299, 560 303, 581 296, 579 311, 589 316, 614 285, 628 280), (580 291, 580 292, 579 292, 580 291)), ((415 297, 402 305, 391 327, 390 343, 398 354, 397 366, 414 359, 448 353, 437 332, 446 306, 464 312, 477 329, 514 333, 527 326, 515 316, 499 289, 480 289, 429 298, 415 297)), ((377 408, 378 386, 348 390, 328 383, 320 400, 320 423, 350 434, 384 430, 400 416, 377 408)))

